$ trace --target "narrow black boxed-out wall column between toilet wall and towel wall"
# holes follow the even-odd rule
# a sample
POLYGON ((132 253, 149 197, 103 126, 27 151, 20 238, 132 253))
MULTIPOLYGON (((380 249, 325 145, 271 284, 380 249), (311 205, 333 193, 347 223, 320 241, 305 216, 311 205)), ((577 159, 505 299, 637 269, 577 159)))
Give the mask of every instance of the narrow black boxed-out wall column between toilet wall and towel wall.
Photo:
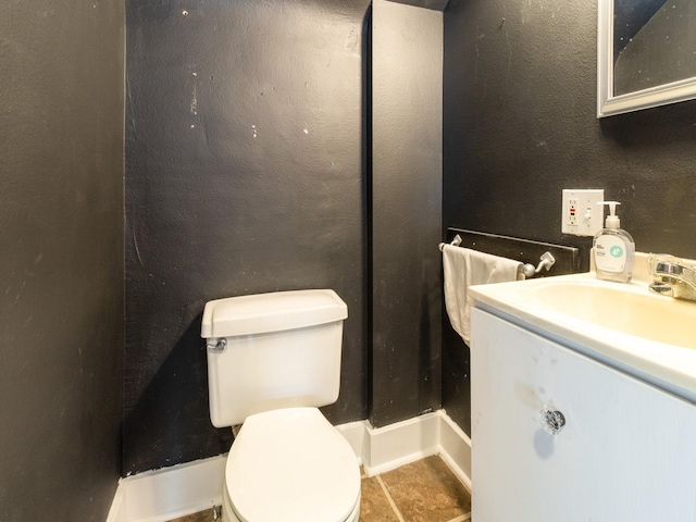
POLYGON ((375 426, 440 406, 443 13, 373 2, 375 426))

